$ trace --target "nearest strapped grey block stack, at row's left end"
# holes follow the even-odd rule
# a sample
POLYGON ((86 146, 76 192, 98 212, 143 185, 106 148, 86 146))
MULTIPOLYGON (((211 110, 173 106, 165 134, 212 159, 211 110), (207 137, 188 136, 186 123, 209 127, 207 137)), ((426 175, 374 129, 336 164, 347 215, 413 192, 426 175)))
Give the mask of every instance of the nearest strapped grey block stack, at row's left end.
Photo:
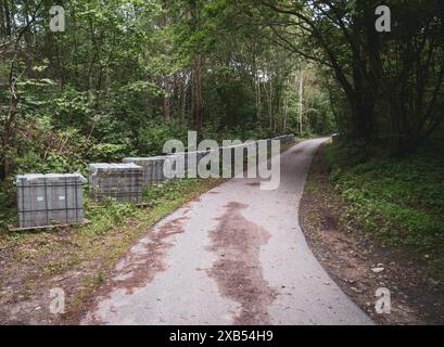
POLYGON ((15 179, 20 228, 84 221, 86 179, 80 174, 27 174, 15 179))

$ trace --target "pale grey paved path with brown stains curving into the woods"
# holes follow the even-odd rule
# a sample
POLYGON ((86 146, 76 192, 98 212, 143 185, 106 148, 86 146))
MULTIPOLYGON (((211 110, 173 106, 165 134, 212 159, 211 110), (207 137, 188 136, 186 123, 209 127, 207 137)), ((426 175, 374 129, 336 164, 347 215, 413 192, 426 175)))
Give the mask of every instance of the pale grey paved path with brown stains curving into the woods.
POLYGON ((233 179, 157 223, 122 259, 83 323, 372 324, 299 227, 306 175, 325 140, 281 155, 279 189, 233 179))

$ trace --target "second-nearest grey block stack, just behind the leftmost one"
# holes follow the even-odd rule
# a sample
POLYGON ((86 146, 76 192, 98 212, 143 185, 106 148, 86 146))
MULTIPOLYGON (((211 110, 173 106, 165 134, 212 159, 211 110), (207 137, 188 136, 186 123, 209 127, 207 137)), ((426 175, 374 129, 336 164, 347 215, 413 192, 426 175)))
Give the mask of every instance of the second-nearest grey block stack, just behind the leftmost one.
POLYGON ((134 163, 89 164, 89 188, 96 202, 112 197, 123 203, 140 204, 143 191, 143 168, 134 163))

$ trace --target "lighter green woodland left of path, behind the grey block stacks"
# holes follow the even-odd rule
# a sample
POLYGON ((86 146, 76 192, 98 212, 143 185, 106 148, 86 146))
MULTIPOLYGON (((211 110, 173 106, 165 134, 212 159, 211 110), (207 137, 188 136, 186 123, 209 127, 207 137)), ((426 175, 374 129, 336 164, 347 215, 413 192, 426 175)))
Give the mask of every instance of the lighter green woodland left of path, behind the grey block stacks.
POLYGON ((66 1, 63 33, 49 29, 50 5, 2 1, 2 179, 158 154, 188 129, 333 129, 319 72, 272 44, 250 2, 66 1))

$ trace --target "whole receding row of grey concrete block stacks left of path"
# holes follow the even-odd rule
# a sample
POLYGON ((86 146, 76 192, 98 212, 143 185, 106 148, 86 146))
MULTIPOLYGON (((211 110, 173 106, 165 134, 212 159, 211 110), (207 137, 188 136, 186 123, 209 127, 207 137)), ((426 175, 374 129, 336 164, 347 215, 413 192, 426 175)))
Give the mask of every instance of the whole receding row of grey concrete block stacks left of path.
MULTIPOLYGON (((333 136, 338 140, 337 136, 333 136)), ((282 144, 295 141, 294 134, 278 137, 282 144)), ((271 139, 266 140, 270 149, 271 139)), ((219 159, 224 168, 230 164, 234 169, 236 152, 242 151, 243 163, 249 155, 256 152, 258 141, 241 145, 219 147, 219 159), (255 151, 249 149, 255 147, 255 151), (224 153, 230 153, 230 162, 224 163, 224 153)), ((143 187, 158 184, 172 177, 168 168, 185 169, 189 177, 189 162, 199 162, 212 151, 176 153, 167 156, 124 158, 123 164, 89 164, 90 191, 97 202, 114 197, 119 202, 142 202, 143 187), (170 160, 168 163, 168 160, 170 160), (167 165, 165 165, 167 164, 167 165)), ((208 164, 210 165, 210 164, 208 164)), ((210 167, 208 167, 210 168, 210 167)), ((243 164, 242 169, 245 166, 243 164)), ((79 174, 30 174, 16 177, 18 222, 21 228, 46 227, 53 223, 69 224, 84 221, 83 183, 85 178, 79 174)))

